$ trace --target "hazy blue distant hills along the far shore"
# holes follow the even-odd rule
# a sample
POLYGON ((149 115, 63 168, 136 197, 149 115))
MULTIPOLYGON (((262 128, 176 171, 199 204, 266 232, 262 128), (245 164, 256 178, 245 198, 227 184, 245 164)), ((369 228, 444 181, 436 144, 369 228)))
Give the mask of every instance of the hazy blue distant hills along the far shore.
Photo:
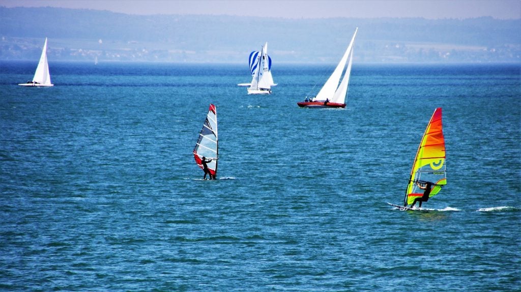
POLYGON ((0 60, 246 63, 268 42, 274 62, 336 63, 358 27, 356 62, 521 62, 521 20, 282 19, 126 15, 0 7, 0 60))

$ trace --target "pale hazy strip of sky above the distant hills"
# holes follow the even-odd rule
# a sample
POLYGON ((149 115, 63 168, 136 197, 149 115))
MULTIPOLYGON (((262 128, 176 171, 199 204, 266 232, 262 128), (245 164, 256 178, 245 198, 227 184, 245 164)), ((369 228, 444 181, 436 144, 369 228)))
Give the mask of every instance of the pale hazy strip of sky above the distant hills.
POLYGON ((5 7, 62 7, 124 14, 197 14, 277 18, 521 19, 521 0, 0 0, 5 7))

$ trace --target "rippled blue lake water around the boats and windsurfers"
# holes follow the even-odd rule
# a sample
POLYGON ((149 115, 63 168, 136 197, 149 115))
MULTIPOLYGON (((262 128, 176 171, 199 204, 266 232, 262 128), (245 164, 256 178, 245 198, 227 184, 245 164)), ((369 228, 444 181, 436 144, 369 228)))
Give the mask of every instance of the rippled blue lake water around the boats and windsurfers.
POLYGON ((519 65, 0 63, 0 290, 519 291, 519 65), (219 168, 191 154, 217 105, 219 168), (399 211, 443 109, 446 187, 399 211))

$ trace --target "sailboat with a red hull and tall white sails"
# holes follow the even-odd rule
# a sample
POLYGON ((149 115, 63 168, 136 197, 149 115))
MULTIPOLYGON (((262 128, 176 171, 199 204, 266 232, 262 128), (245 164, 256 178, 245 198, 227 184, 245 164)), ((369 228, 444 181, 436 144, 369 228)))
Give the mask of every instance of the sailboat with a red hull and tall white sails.
POLYGON ((318 91, 317 96, 311 99, 306 97, 305 101, 297 102, 299 107, 345 108, 345 97, 348 93, 349 76, 351 75, 351 65, 353 64, 353 45, 357 31, 358 28, 356 28, 355 33, 353 34, 353 38, 351 39, 351 43, 349 43, 348 48, 345 50, 344 56, 338 63, 337 68, 334 69, 333 73, 331 76, 329 76, 329 79, 326 81, 324 86, 322 86, 320 91, 318 91), (345 69, 344 77, 342 78, 342 82, 340 82, 340 77, 342 76, 342 72, 344 71, 346 63, 348 64, 347 69, 345 69))

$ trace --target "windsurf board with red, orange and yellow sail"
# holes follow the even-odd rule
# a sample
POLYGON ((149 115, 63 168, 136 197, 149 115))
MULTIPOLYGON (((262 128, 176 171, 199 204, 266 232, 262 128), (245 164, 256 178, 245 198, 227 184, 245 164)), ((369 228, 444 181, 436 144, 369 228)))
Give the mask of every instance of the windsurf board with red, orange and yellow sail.
POLYGON ((407 205, 413 204, 415 198, 423 196, 424 191, 419 188, 419 185, 426 185, 428 182, 432 185, 429 198, 438 194, 441 188, 447 184, 441 108, 434 111, 424 136, 421 138, 407 183, 403 206, 388 204, 402 210, 417 210, 407 207, 407 205))

